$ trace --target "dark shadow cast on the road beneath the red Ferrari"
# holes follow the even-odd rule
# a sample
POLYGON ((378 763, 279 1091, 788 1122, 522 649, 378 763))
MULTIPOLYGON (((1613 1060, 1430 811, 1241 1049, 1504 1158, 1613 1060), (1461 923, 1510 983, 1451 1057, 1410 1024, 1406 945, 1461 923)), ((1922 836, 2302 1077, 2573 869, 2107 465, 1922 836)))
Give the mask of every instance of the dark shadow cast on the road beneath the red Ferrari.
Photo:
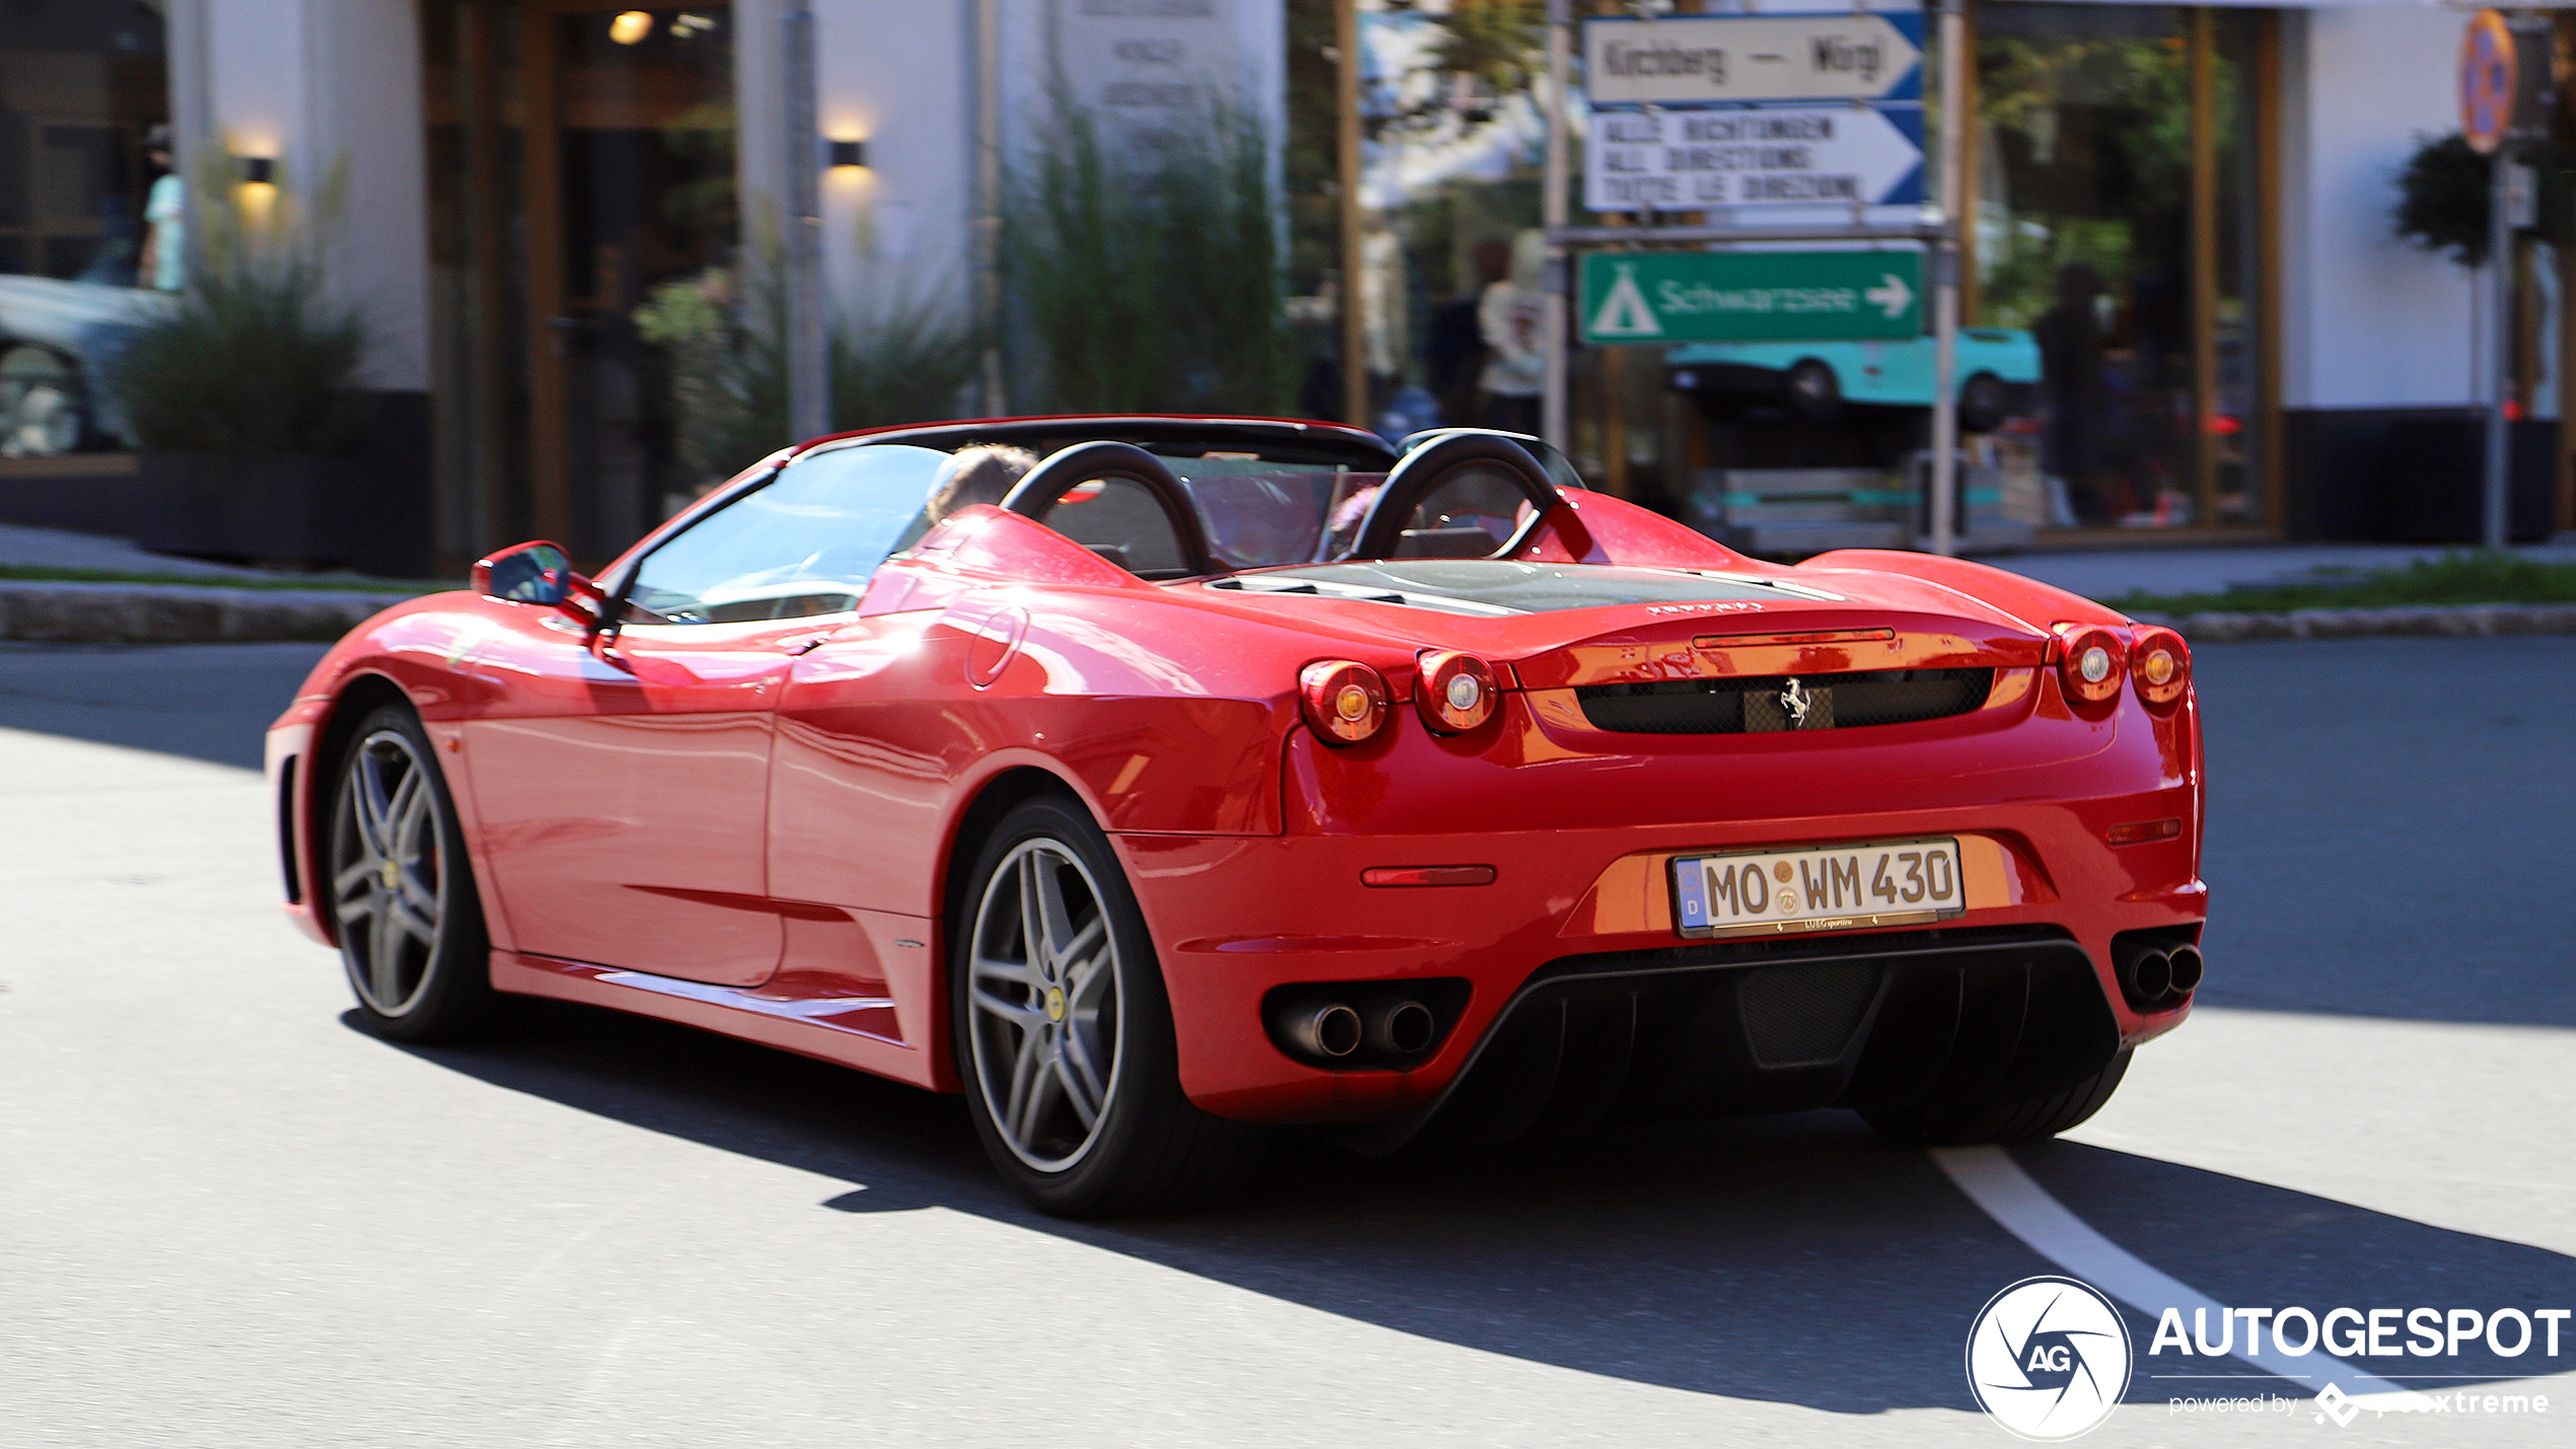
MULTIPOLYGON (((402 1050, 848 1181, 829 1210, 974 1212, 1466 1349, 1839 1413, 1973 1408, 1960 1346, 1976 1310, 2009 1282, 2058 1271, 1924 1153, 1880 1143, 1844 1112, 1394 1161, 1291 1138, 1229 1207, 1061 1223, 1002 1186, 956 1096, 556 1001, 526 1004, 492 1045, 402 1050)), ((2074 1143, 2020 1156, 2107 1235, 2221 1302, 2576 1302, 2576 1259, 2543 1248, 2074 1143)), ((2143 1351, 2154 1318, 2130 1313, 2130 1333, 2143 1351)), ((2506 1380, 2566 1361, 2463 1354, 2437 1367, 2506 1380)), ((2156 1382, 2166 1364, 2249 1372, 2141 1356, 2130 1398, 2321 1387, 2156 1382)))

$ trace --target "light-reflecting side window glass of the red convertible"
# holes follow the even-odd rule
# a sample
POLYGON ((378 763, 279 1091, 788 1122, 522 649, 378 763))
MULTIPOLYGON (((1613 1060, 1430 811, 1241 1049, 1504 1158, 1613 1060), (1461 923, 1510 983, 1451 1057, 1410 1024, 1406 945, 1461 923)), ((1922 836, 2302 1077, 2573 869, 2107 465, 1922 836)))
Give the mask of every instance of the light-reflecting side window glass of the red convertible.
POLYGON ((739 623, 858 607, 876 566, 930 525, 948 456, 835 448, 701 517, 654 548, 629 589, 629 623, 739 623))

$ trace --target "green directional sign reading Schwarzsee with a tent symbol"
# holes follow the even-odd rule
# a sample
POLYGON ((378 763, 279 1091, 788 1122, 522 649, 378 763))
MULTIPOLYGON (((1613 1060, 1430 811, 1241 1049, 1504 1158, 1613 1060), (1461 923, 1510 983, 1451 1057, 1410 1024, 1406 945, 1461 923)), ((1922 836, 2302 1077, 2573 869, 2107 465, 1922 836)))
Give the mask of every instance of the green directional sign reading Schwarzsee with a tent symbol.
POLYGON ((1589 252, 1584 342, 1919 337, 1922 252, 1589 252))

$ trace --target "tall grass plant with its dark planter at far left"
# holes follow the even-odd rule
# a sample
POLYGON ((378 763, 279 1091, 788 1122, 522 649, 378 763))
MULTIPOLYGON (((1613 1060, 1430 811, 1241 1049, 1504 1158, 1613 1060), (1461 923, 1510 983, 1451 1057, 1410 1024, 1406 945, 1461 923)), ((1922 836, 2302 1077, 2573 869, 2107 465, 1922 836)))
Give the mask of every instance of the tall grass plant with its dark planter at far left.
MULTIPOLYGON (((224 196, 224 185, 204 193, 224 196)), ((366 327, 327 296, 283 211, 211 216, 180 304, 108 371, 142 445, 137 543, 160 553, 332 566, 350 558, 366 327)))

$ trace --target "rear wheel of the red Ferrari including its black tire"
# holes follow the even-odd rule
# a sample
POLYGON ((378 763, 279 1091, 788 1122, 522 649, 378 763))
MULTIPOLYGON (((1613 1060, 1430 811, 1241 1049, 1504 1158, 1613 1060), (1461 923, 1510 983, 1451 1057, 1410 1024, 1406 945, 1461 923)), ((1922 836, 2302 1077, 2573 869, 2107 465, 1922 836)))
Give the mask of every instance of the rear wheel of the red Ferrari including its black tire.
POLYGON ((1041 1212, 1208 1207, 1249 1181, 1270 1135, 1182 1096, 1154 939, 1079 803, 1038 795, 1002 816, 976 852, 948 942, 976 1138, 1041 1212), (1043 950, 1028 945, 1030 891, 1036 911, 1054 911, 1038 929, 1043 950))

